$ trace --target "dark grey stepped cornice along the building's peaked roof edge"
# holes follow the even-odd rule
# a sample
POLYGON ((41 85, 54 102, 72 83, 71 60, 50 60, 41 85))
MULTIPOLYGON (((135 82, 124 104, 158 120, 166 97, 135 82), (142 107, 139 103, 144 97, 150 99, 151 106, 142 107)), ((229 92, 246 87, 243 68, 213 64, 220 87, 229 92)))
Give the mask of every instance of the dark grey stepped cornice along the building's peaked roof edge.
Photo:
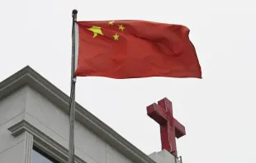
MULTIPOLYGON (((38 91, 45 98, 53 102, 64 112, 69 114, 69 96, 60 91, 59 88, 47 81, 44 77, 40 76, 31 67, 26 66, 20 71, 8 77, 0 83, 0 100, 22 86, 31 86, 34 90, 38 91)), ((117 151, 127 156, 130 160, 138 163, 155 163, 144 152, 140 151, 124 137, 121 137, 107 124, 103 123, 96 116, 84 109, 83 106, 76 103, 76 120, 83 124, 84 127, 90 129, 93 133, 101 137, 105 142, 108 142, 117 151)))

